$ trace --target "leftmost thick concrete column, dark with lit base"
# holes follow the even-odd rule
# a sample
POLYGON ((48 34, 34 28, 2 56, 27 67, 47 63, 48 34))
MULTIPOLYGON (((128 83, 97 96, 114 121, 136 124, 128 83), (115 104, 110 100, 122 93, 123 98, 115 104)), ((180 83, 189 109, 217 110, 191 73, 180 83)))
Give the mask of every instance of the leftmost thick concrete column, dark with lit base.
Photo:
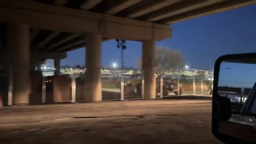
POLYGON ((10 23, 7 32, 7 51, 12 70, 14 105, 29 103, 29 26, 24 23, 10 23))

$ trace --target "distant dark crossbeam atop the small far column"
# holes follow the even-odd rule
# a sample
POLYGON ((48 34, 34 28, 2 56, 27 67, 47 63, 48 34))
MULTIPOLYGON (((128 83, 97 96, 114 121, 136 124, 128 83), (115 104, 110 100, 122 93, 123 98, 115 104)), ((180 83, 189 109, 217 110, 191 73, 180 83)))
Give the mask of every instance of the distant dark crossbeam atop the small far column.
POLYGON ((67 53, 43 51, 34 51, 31 52, 31 55, 33 55, 33 57, 37 59, 66 59, 68 57, 67 53))

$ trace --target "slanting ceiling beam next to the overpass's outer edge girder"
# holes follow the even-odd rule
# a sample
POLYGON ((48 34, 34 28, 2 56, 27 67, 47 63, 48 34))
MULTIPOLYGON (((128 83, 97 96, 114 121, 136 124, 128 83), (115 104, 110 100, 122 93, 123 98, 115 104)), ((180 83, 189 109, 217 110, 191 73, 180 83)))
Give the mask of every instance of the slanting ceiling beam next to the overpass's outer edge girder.
POLYGON ((150 17, 148 17, 146 20, 147 21, 157 21, 157 20, 160 20, 160 19, 164 19, 166 17, 171 17, 172 15, 175 15, 175 14, 183 13, 183 12, 194 10, 194 9, 198 9, 200 7, 211 5, 211 4, 214 4, 214 3, 219 3, 221 1, 223 1, 223 0, 200 1, 200 2, 196 2, 195 4, 190 5, 190 6, 187 6, 185 4, 185 5, 182 5, 181 7, 177 7, 177 8, 174 8, 174 9, 170 9, 168 11, 163 11, 163 12, 159 12, 159 13, 150 15, 150 17))

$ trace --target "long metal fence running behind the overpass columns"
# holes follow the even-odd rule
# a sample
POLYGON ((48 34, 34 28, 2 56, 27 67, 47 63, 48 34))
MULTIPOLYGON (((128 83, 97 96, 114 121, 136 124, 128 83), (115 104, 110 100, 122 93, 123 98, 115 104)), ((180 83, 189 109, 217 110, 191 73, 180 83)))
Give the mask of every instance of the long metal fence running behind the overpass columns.
MULTIPOLYGON (((170 70, 165 76, 156 78, 156 98, 174 95, 209 94, 212 86, 212 72, 199 70, 170 70)), ((30 103, 82 102, 90 101, 88 91, 90 79, 85 69, 65 69, 60 77, 51 71, 34 71, 33 94, 30 103), (45 75, 46 74, 46 75, 45 75)), ((143 99, 144 79, 140 69, 100 69, 102 100, 143 99)), ((3 77, 4 78, 4 77, 3 77)), ((2 78, 2 79, 3 79, 2 78)), ((12 77, 9 77, 9 79, 12 77)), ((7 82, 7 80, 6 80, 7 82)), ((10 81, 12 82, 12 81, 10 81)), ((12 105, 12 83, 6 88, 6 105, 12 105)), ((4 87, 4 86, 2 86, 4 87)))

